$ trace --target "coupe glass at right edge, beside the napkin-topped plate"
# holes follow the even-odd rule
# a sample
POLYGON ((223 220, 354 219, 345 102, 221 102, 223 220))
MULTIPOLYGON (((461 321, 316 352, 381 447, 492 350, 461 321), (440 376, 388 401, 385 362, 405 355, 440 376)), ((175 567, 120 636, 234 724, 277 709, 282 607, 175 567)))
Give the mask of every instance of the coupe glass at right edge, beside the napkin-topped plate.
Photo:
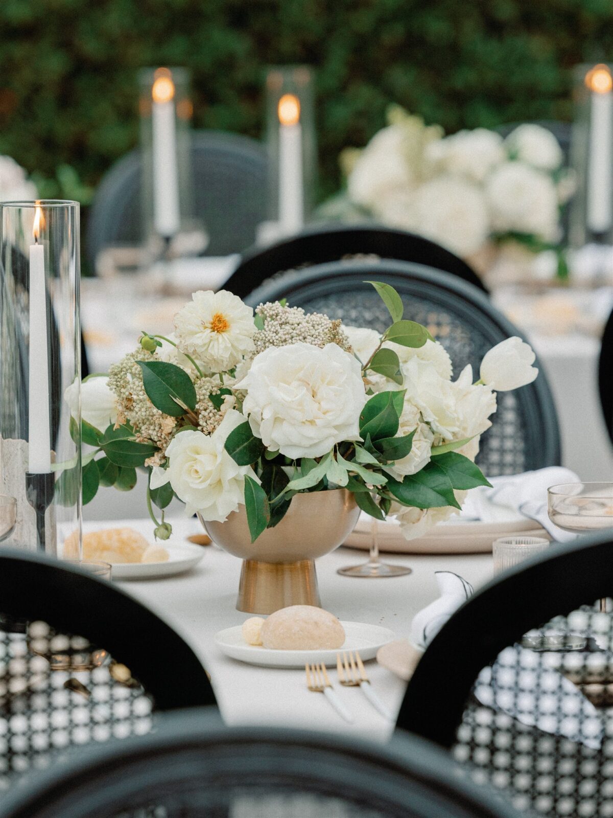
MULTIPOLYGON (((572 534, 605 531, 613 534, 613 483, 560 483, 547 490, 549 519, 572 534)), ((600 600, 606 613, 606 600, 600 600)))

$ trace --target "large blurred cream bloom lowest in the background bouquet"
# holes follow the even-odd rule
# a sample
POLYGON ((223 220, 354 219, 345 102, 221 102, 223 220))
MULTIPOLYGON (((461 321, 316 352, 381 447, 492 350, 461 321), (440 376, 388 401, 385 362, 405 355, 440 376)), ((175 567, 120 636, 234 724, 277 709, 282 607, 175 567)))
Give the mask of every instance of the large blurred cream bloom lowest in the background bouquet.
POLYGON ((468 256, 481 249, 490 235, 490 216, 477 185, 445 175, 413 192, 402 226, 468 256))

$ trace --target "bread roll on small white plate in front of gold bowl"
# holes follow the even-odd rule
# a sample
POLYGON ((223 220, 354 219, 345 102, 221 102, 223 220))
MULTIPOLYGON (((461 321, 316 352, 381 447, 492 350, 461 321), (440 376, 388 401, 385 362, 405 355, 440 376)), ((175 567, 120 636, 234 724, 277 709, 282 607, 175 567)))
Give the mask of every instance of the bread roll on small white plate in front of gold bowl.
POLYGON ((276 650, 322 650, 341 648, 345 631, 338 619, 312 605, 290 605, 266 619, 262 644, 276 650))

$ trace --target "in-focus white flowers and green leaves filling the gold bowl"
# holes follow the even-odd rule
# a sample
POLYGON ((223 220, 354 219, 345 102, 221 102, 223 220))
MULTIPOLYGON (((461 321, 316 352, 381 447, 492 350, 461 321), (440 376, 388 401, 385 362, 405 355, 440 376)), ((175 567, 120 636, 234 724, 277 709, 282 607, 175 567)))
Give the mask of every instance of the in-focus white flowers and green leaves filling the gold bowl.
POLYGON ((383 335, 284 301, 254 313, 223 290, 195 293, 174 335, 143 332, 108 376, 83 382, 83 501, 100 486, 132 488, 143 467, 162 539, 172 497, 205 522, 244 509, 251 542, 305 492, 351 492, 407 538, 457 513, 488 484, 474 459, 494 390, 534 380, 535 355, 508 339, 477 381, 471 366, 453 380, 449 355, 403 318, 396 290, 370 283, 391 315, 383 335))

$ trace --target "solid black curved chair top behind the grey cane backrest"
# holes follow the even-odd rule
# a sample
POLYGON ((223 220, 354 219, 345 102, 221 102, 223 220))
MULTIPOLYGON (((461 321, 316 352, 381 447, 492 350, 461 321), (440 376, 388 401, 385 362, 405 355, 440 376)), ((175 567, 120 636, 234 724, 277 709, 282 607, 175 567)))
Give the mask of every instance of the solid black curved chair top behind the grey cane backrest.
POLYGON ((225 289, 242 298, 274 273, 353 256, 379 256, 427 264, 453 273, 486 291, 477 273, 450 250, 423 236, 377 224, 315 224, 298 236, 271 247, 248 250, 226 281, 225 289))

